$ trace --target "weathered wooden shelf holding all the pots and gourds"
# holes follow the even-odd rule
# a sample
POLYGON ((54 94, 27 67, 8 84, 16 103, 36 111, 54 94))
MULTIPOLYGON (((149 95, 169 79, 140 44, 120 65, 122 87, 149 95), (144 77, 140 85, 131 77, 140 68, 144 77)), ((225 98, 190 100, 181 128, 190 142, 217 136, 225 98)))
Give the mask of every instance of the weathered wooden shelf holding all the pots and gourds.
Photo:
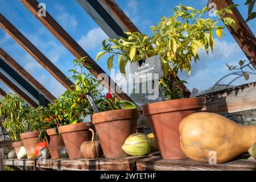
POLYGON ((256 170, 256 160, 248 159, 248 154, 221 164, 210 165, 199 163, 191 159, 165 160, 160 152, 152 152, 147 156, 126 156, 115 159, 7 159, 7 166, 32 166, 34 170, 70 170, 70 171, 226 171, 226 170, 256 170))

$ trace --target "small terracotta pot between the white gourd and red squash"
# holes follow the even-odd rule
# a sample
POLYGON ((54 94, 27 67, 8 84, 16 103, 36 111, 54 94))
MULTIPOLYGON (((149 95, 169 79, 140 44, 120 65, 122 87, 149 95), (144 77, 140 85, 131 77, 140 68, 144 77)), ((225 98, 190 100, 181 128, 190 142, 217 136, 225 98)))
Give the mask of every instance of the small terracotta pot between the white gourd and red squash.
POLYGON ((36 158, 35 146, 39 140, 39 134, 39 131, 32 131, 20 134, 20 139, 23 142, 28 159, 36 158))

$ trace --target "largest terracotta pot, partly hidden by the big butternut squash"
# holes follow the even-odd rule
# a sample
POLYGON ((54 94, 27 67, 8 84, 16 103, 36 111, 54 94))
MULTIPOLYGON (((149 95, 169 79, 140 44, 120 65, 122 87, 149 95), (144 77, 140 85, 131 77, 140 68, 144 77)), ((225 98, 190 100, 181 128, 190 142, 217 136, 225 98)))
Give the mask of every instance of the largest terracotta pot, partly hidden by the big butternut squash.
POLYGON ((163 159, 187 158, 180 148, 179 125, 183 118, 201 111, 202 107, 201 98, 183 98, 142 106, 163 159))

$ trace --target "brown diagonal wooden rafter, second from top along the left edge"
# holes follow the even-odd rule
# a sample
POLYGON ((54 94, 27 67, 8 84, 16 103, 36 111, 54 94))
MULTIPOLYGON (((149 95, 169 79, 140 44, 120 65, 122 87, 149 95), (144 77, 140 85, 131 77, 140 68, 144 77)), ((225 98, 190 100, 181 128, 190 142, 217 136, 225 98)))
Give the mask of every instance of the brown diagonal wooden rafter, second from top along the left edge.
POLYGON ((0 47, 0 57, 9 64, 20 76, 22 76, 25 80, 27 80, 31 85, 36 88, 39 93, 43 94, 49 101, 56 100, 56 98, 49 92, 42 84, 40 84, 34 77, 30 75, 25 69, 23 69, 10 55, 8 55, 1 47, 0 47))

